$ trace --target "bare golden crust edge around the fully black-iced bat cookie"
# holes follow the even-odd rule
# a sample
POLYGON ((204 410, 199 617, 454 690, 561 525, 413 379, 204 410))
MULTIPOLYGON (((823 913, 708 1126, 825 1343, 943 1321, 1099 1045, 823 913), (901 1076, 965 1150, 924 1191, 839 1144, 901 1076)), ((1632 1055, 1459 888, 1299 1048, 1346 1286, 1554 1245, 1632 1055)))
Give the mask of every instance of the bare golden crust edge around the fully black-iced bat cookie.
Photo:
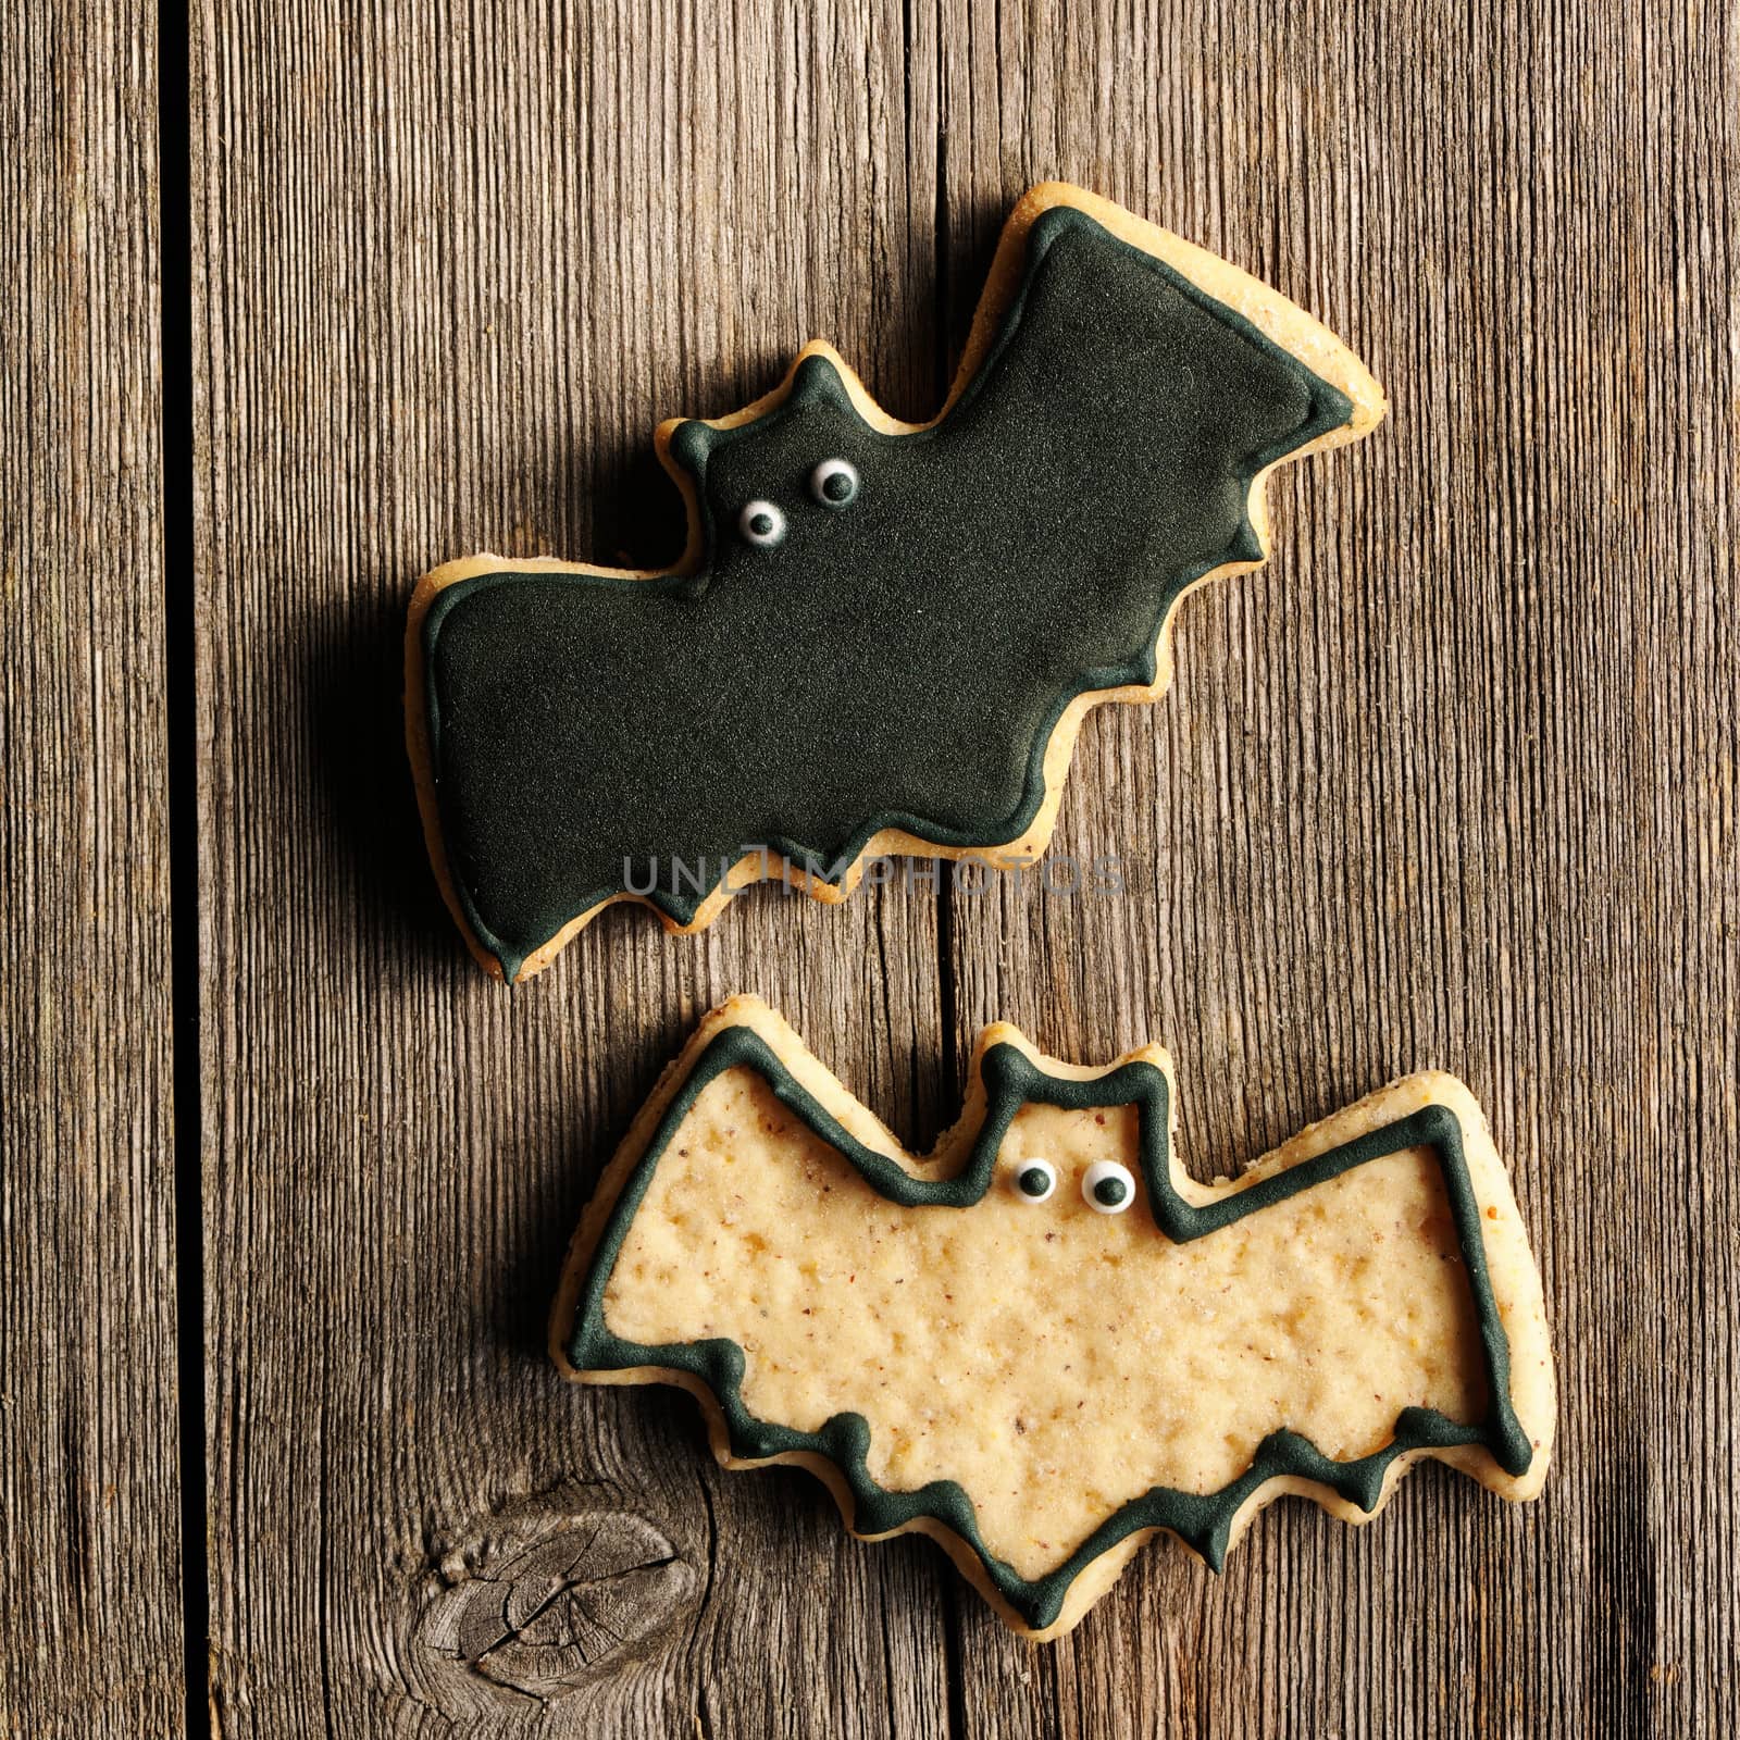
MULTIPOLYGON (((1286 350, 1291 357, 1350 400, 1354 411, 1347 423, 1303 442, 1300 447, 1295 447, 1277 459, 1275 465, 1288 465, 1295 459, 1303 459, 1308 454, 1359 440, 1383 419, 1387 411, 1383 390, 1371 378, 1364 364, 1326 325, 1322 325, 1315 317, 1305 313, 1303 308, 1291 303, 1279 291, 1270 289, 1260 278, 1251 277, 1248 271, 1234 266, 1220 256, 1211 254, 1192 242, 1185 242, 1169 230, 1162 230, 1159 224, 1152 224, 1147 219, 1134 216, 1134 212, 1126 211, 1122 205, 1117 205, 1098 193, 1091 193, 1086 188, 1079 188, 1067 181, 1046 181, 1030 188, 1014 204, 1004 221, 1002 235, 997 242, 997 252, 992 259, 985 285, 980 291, 978 306, 973 313, 973 325, 966 348, 960 355, 960 365, 955 369, 955 378, 948 386, 948 395, 943 398, 941 407, 933 418, 927 418, 922 423, 903 423, 901 419, 891 416, 875 402, 870 390, 858 378, 853 367, 839 355, 839 351, 821 339, 811 339, 811 343, 807 343, 792 360, 792 365, 780 385, 769 393, 764 393, 753 404, 745 405, 741 411, 733 411, 722 418, 705 419, 670 418, 658 425, 654 447, 665 472, 677 484, 682 496, 684 513, 687 517, 687 539, 682 557, 673 567, 623 569, 592 562, 566 562, 557 557, 522 557, 510 560, 491 552, 482 552, 478 555, 445 562, 426 572, 418 581, 416 592, 411 597, 405 623, 405 750, 411 757, 411 771, 418 792, 418 811, 423 818, 423 840, 428 847, 430 865, 435 870, 435 880, 440 886, 442 900, 452 914, 452 919, 459 927, 459 934, 465 938, 466 948, 470 948, 478 966, 482 966, 491 978, 505 980, 506 974, 501 960, 472 927, 470 917, 465 910, 465 901, 459 898, 458 886, 454 884, 452 867, 447 860, 447 846, 440 825, 440 799, 435 790, 433 759, 430 755, 430 726, 425 699, 426 672, 423 654, 423 621, 428 616, 435 597, 447 586, 454 586, 465 579, 473 579, 478 574, 592 574, 604 579, 621 581, 661 579, 670 574, 693 572, 703 553, 703 519, 701 506, 694 492, 694 480, 672 459, 670 440, 673 432, 687 421, 705 421, 708 426, 719 430, 738 428, 745 423, 757 421, 786 400, 793 383, 797 381, 799 369, 811 357, 821 357, 835 369, 846 386, 846 392, 851 395, 858 414, 880 433, 915 435, 920 430, 934 428, 948 416, 962 393, 973 383, 997 339, 1002 317, 1021 287, 1027 263, 1028 231, 1039 218, 1060 205, 1074 207, 1101 224, 1121 242, 1152 254, 1180 277, 1188 278, 1199 291, 1232 310, 1232 313, 1248 320, 1258 332, 1270 339, 1270 343, 1286 350)), ((978 858, 981 863, 988 863, 994 868, 1014 868, 1018 865, 1035 861, 1051 844, 1051 835, 1058 821, 1058 811, 1063 804, 1063 788, 1068 783, 1070 760, 1075 753, 1075 740, 1081 734, 1081 727, 1088 713, 1091 713, 1096 706, 1112 701, 1128 705, 1157 701, 1168 687, 1171 687, 1173 680, 1173 623, 1178 616, 1178 606, 1199 586, 1206 586, 1216 579, 1230 579, 1237 574, 1248 574, 1268 560, 1270 539, 1267 480, 1275 465, 1267 465, 1260 472, 1253 473, 1244 503, 1246 519, 1249 520, 1256 538, 1258 555, 1249 560, 1225 562, 1178 590, 1166 609, 1166 616, 1162 618, 1155 637, 1154 682, 1124 684, 1112 689, 1084 689, 1065 705, 1051 729, 1051 736, 1046 741, 1046 750, 1041 760, 1042 795, 1039 807, 1027 826, 1021 828, 1014 839, 943 846, 910 833, 905 828, 882 828, 865 840, 853 861, 842 870, 837 882, 823 880, 820 875, 814 875, 802 865, 795 865, 786 858, 759 853, 746 854, 740 858, 720 884, 706 894, 696 908, 694 917, 687 922, 663 912, 644 894, 621 891, 597 901, 585 912, 569 919, 553 936, 539 943, 529 955, 525 955, 519 971, 513 974, 513 983, 522 985, 525 980, 534 978, 548 967, 555 957, 588 924, 592 924, 593 919, 599 917, 600 912, 625 901, 651 908, 666 934, 693 936, 698 931, 705 931, 720 915, 720 912, 724 912, 733 894, 745 887, 752 887, 757 882, 783 880, 788 886, 809 894, 811 900, 818 900, 823 905, 839 905, 858 887, 867 858, 900 856, 940 858, 947 861, 978 858)))

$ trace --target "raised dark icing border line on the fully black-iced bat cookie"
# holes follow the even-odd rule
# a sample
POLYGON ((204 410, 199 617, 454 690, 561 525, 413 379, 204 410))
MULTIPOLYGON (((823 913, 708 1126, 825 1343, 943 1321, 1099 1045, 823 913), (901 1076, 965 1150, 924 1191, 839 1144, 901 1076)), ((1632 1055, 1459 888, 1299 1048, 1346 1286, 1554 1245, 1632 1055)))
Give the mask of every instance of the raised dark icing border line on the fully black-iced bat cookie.
MULTIPOLYGON (((668 454, 675 465, 680 465, 694 480, 693 489, 693 515, 694 524, 699 527, 699 560, 693 571, 672 571, 668 574, 654 574, 649 578, 637 578, 632 574, 612 574, 612 572, 564 572, 564 571, 503 571, 491 574, 470 574, 465 579, 454 581, 451 586, 444 586, 428 606, 423 618, 423 670, 425 670, 425 719, 428 729, 428 760, 430 760, 430 778, 437 788, 440 788, 440 706, 437 701, 437 684, 435 684, 435 642, 440 635, 442 623, 447 614, 456 609, 465 599, 487 586, 503 585, 574 585, 574 586, 654 586, 666 588, 679 593, 699 595, 706 586, 706 578, 712 569, 712 553, 719 545, 720 538, 734 536, 731 527, 719 527, 713 522, 712 510, 706 503, 706 461, 708 456, 733 440, 741 440, 748 432, 762 426, 769 419, 781 416, 790 416, 800 411, 804 405, 813 405, 818 402, 826 402, 830 405, 849 411, 860 419, 865 433, 887 445, 905 445, 912 442, 929 442, 936 440, 947 428, 948 418, 955 411, 967 405, 981 390, 985 381, 990 378, 992 371, 997 367, 1004 350, 1009 346, 1014 332, 1021 324, 1021 317, 1027 308, 1028 289, 1039 270, 1041 261, 1046 252, 1058 242, 1060 237, 1067 235, 1070 230, 1093 230, 1105 235, 1114 245, 1126 249, 1129 254, 1136 256, 1143 264, 1166 278, 1180 294, 1188 298, 1204 308, 1209 315, 1220 320, 1225 327, 1237 332, 1249 345, 1262 350, 1265 355, 1291 369, 1305 385, 1310 395, 1310 412, 1305 421, 1288 437, 1272 442, 1260 452, 1253 454, 1248 463, 1237 473, 1244 482, 1244 513, 1241 517, 1239 527, 1228 539, 1227 546, 1215 555, 1211 560, 1199 564, 1197 567, 1187 569, 1174 579, 1174 583, 1162 595, 1159 607, 1155 611, 1154 632, 1147 637, 1141 656, 1131 659, 1128 665, 1101 666, 1086 672, 1079 682, 1058 694, 1056 705, 1046 717, 1041 729, 1035 733, 1034 746, 1028 755, 1027 781, 1021 790, 1021 802, 1007 818, 987 820, 983 826, 966 830, 966 828, 945 828, 922 816, 910 814, 907 811, 879 811, 868 816, 861 826, 858 826, 847 844, 833 854, 826 854, 814 846, 807 846, 802 840, 771 837, 762 840, 766 847, 766 861, 785 860, 795 868, 802 870, 811 880, 837 889, 840 884, 832 880, 835 875, 844 875, 846 867, 854 865, 863 854, 865 847, 875 835, 886 830, 900 830, 912 835, 914 839, 924 840, 929 846, 941 846, 950 851, 971 851, 973 847, 994 847, 1006 846, 1009 840, 1020 839, 1025 828, 1032 823, 1034 816, 1039 814, 1041 806, 1046 800, 1046 752, 1051 748, 1051 740, 1056 734, 1058 722, 1063 713, 1082 696, 1098 694, 1108 689, 1124 687, 1152 687, 1161 633, 1166 626, 1168 618, 1173 612, 1178 599, 1188 592, 1197 581, 1213 574, 1216 569, 1227 567, 1228 564, 1239 562, 1262 562, 1265 559, 1263 541, 1256 532, 1255 524, 1249 517, 1249 491, 1255 484, 1258 473, 1265 472, 1268 466, 1275 465, 1289 452, 1303 447, 1331 430, 1345 428, 1354 421, 1355 405, 1354 400, 1347 397, 1340 388, 1331 386, 1324 381, 1314 369, 1310 369, 1300 357, 1284 346, 1277 345, 1267 332, 1253 325, 1244 315, 1228 308, 1225 303, 1209 296, 1199 284, 1187 278, 1181 271, 1171 266, 1168 261, 1161 259, 1157 254, 1148 252, 1145 247, 1138 247, 1133 242, 1126 242, 1122 237, 1115 235, 1105 224, 1101 224, 1089 212, 1082 211, 1079 205, 1060 204, 1041 212, 1034 219, 1027 231, 1027 259, 1021 271, 1021 282, 1011 298, 1007 308, 1002 313, 1000 325, 997 329, 997 338, 987 348, 973 379, 966 385, 960 397, 948 407, 948 414, 940 418, 936 423, 926 425, 924 428, 912 430, 907 433, 887 433, 873 425, 867 423, 858 412, 853 395, 847 392, 844 379, 839 371, 828 362, 826 357, 811 355, 806 357, 792 374, 792 385, 788 392, 780 398, 776 405, 771 405, 762 416, 752 418, 746 423, 738 423, 729 428, 717 428, 699 418, 689 418, 677 425, 670 435, 668 454)), ((438 799, 437 799, 438 802, 438 799)), ((445 828, 442 830, 445 835, 445 828)), ((559 924, 550 936, 543 938, 539 943, 532 945, 532 950, 519 952, 515 945, 508 943, 506 938, 498 936, 482 919, 472 900, 472 891, 465 882, 463 867, 452 860, 451 846, 449 854, 449 880, 452 884, 454 898, 459 903, 465 920, 472 929, 473 938, 478 945, 487 950, 501 966, 503 978, 513 983, 519 978, 520 967, 525 964, 527 955, 536 948, 545 947, 552 938, 559 936, 569 924, 576 919, 585 919, 593 915, 606 901, 630 893, 623 884, 609 884, 606 887, 593 889, 583 896, 571 910, 567 919, 559 924)), ((724 875, 710 884, 705 891, 696 894, 677 893, 675 889, 652 887, 647 893, 635 893, 635 900, 652 907, 666 919, 679 926, 687 926, 694 922, 696 914, 701 910, 706 900, 710 900, 724 882, 724 875)))

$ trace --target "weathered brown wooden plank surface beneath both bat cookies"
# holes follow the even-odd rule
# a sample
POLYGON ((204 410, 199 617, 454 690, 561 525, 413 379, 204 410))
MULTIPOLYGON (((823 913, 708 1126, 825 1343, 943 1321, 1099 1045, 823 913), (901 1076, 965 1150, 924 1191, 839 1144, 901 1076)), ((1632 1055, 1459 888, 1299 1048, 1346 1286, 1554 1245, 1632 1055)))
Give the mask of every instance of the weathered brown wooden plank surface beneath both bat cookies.
POLYGON ((0 1726, 1731 1733, 1735 44, 1620 0, 26 0, 0 1726), (487 983, 400 750, 418 572, 672 553, 652 423, 814 334, 926 414, 1047 176, 1277 284, 1394 404, 1277 478, 1169 698, 1086 729, 1058 849, 1129 896, 764 889, 487 983), (924 1141, 999 1014, 1164 1039, 1202 1169, 1463 1074, 1554 1312, 1545 1498, 1284 1505, 1035 1651, 929 1545, 720 1476, 686 1399, 562 1387, 567 1230, 734 990, 924 1141))

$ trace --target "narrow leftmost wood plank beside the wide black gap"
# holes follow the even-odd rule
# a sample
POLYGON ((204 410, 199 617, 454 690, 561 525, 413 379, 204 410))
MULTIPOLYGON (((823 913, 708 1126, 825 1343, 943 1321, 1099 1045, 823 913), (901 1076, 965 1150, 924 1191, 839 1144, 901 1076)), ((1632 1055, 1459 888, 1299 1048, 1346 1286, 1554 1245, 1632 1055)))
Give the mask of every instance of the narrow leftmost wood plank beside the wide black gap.
POLYGON ((0 1728, 181 1731, 155 24, 0 42, 0 1728))

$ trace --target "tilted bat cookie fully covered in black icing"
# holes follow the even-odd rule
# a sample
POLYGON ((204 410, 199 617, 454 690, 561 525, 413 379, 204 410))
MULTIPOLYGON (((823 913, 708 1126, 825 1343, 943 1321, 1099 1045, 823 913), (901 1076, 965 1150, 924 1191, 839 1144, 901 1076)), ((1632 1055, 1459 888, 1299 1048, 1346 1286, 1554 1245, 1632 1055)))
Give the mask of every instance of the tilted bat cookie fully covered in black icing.
POLYGON ((867 854, 1044 847, 1086 710, 1169 677, 1192 585, 1263 555, 1260 480, 1383 411, 1322 327, 1079 188, 1004 230, 948 400, 891 419, 826 346, 661 426, 668 572, 428 574, 407 729, 444 893, 510 980, 612 900, 672 929, 867 854))

